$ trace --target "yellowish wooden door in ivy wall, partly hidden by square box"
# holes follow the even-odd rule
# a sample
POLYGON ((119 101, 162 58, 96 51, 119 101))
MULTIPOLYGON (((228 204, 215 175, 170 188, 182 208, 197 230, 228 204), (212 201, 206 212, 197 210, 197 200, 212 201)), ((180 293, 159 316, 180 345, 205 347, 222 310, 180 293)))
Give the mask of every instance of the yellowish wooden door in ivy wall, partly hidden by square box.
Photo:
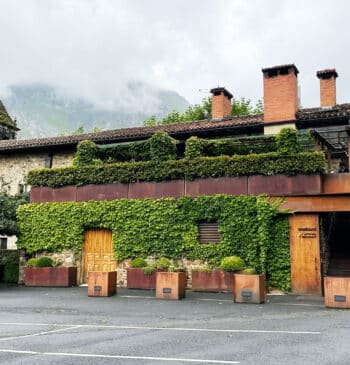
POLYGON ((83 282, 89 271, 116 271, 112 232, 108 229, 89 229, 85 232, 83 282))

